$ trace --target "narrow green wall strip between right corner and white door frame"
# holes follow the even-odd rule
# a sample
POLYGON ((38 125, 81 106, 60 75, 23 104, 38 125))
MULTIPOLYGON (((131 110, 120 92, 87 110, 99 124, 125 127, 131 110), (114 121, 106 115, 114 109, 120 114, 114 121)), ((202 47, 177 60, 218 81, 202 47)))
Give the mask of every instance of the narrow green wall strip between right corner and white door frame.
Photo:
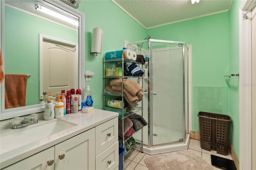
MULTIPOLYGON (((239 73, 239 7, 242 0, 233 0, 230 8, 230 74, 239 73)), ((230 89, 231 143, 239 158, 239 77, 228 80, 230 89)))

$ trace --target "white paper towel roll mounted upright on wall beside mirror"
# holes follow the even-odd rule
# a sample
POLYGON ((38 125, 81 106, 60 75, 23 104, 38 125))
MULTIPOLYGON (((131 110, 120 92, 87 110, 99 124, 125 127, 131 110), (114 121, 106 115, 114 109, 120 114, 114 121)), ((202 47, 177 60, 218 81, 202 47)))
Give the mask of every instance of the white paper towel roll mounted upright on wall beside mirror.
POLYGON ((91 47, 92 53, 101 54, 102 36, 103 36, 103 32, 100 28, 92 29, 92 47, 91 47))

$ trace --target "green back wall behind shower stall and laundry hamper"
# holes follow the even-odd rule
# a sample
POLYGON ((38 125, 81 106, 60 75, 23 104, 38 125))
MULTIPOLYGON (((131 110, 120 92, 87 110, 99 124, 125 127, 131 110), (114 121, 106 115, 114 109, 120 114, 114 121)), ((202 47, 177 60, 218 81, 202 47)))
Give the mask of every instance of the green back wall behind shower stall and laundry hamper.
POLYGON ((147 30, 153 39, 192 44, 192 131, 198 112, 229 114, 229 12, 147 30))

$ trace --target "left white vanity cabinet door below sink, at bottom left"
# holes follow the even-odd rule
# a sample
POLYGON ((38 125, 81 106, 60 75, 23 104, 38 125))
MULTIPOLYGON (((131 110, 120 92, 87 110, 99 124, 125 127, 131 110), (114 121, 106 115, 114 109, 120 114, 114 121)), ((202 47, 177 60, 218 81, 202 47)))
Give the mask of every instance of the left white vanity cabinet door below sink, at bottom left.
POLYGON ((3 170, 54 170, 54 146, 12 164, 3 170))

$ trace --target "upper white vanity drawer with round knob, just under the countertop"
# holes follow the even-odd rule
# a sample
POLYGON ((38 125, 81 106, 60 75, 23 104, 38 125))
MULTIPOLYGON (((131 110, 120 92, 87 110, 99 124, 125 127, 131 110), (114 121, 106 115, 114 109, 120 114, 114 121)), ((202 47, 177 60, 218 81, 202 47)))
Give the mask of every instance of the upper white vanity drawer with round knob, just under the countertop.
POLYGON ((118 117, 96 127, 96 156, 118 140, 118 117))

